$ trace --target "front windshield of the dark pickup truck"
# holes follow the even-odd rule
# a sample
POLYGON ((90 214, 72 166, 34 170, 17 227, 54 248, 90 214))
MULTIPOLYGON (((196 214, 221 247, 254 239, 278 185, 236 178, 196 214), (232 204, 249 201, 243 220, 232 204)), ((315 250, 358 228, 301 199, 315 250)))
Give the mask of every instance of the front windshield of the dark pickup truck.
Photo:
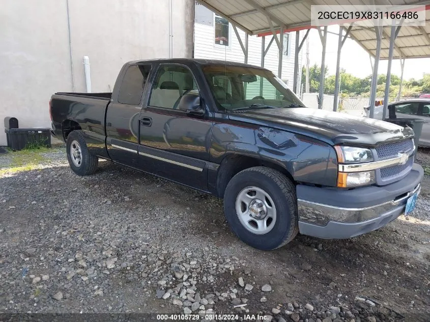
POLYGON ((218 108, 304 107, 285 83, 268 70, 228 65, 204 65, 202 69, 218 108))

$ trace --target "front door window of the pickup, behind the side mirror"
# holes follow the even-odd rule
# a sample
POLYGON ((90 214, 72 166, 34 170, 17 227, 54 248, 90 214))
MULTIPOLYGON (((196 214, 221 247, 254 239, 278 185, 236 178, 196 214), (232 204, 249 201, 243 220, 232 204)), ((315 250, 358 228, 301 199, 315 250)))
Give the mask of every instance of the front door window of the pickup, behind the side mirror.
POLYGON ((163 65, 157 71, 149 105, 176 108, 179 98, 191 90, 194 90, 194 93, 198 93, 194 78, 187 68, 163 65))

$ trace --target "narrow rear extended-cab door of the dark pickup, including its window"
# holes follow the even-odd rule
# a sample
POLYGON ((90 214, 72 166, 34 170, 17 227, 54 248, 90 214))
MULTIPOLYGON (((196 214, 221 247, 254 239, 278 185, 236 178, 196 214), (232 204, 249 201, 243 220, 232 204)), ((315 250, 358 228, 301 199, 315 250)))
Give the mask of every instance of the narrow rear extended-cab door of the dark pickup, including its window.
POLYGON ((113 161, 139 167, 137 148, 139 143, 139 114, 142 97, 147 86, 151 64, 135 64, 122 71, 118 93, 106 111, 106 146, 113 161))

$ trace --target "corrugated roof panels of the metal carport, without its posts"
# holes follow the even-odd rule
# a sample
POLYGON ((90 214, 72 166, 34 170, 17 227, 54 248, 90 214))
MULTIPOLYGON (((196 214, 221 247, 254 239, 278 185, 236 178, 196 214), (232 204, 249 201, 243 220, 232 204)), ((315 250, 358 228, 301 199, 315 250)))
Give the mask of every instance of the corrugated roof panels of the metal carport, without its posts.
MULTIPOLYGON (((269 35, 283 27, 284 32, 311 28, 311 5, 348 5, 357 1, 320 0, 197 0, 198 3, 224 17, 249 35, 269 35)), ((421 5, 426 6, 425 26, 403 26, 395 40, 393 58, 430 57, 430 1, 382 0, 378 5, 421 5)), ((388 59, 389 30, 384 27, 380 59, 388 59)), ((356 40, 368 53, 375 56, 376 36, 370 28, 353 26, 350 37, 356 40)))

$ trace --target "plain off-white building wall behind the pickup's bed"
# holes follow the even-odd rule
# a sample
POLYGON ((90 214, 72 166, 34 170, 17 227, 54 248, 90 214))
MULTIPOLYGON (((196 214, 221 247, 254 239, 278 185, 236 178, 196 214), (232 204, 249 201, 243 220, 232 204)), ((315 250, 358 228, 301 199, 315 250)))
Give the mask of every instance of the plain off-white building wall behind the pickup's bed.
MULTIPOLYGON (((169 56, 169 0, 2 0, 1 8, 0 145, 5 116, 20 128, 50 127, 51 95, 85 92, 84 55, 93 92, 109 92, 128 61, 169 56)), ((193 16, 193 0, 173 0, 174 57, 192 57, 193 16)))

